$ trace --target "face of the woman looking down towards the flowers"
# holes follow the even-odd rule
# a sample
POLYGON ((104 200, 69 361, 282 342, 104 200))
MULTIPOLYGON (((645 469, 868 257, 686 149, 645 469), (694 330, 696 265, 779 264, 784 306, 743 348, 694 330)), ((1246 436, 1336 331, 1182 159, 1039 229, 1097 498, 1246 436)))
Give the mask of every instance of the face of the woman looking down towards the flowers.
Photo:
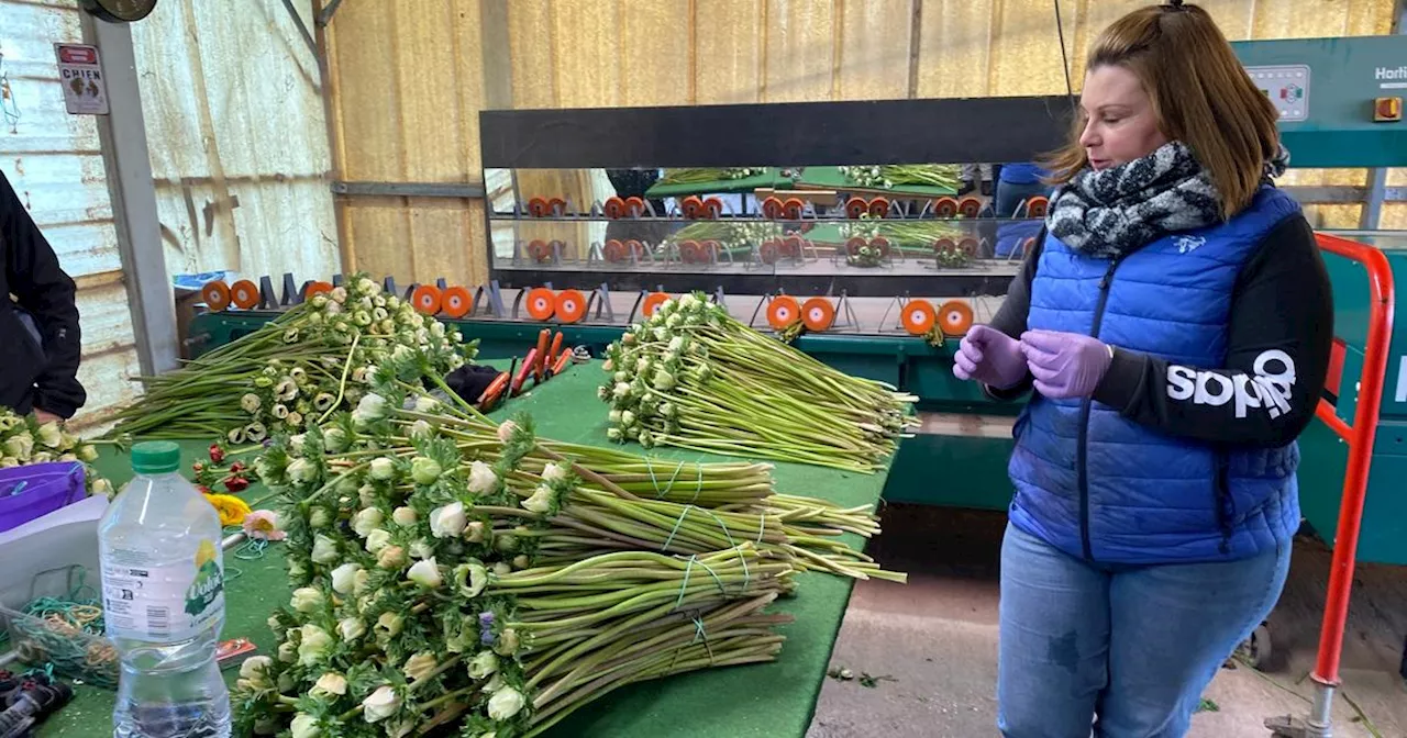
POLYGON ((1168 142, 1142 83, 1121 66, 1104 65, 1085 75, 1079 104, 1085 117, 1079 145, 1096 170, 1133 162, 1168 142))

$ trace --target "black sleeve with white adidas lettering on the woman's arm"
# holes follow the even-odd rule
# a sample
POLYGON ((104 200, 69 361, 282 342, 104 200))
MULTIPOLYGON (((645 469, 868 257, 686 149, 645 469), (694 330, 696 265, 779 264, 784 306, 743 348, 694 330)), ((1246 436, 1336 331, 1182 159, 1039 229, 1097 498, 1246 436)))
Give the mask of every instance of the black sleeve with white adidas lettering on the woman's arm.
POLYGON ((1114 347, 1095 399, 1173 436, 1285 446, 1314 417, 1334 342, 1328 271, 1301 216, 1286 219, 1242 267, 1224 367, 1185 367, 1114 347))

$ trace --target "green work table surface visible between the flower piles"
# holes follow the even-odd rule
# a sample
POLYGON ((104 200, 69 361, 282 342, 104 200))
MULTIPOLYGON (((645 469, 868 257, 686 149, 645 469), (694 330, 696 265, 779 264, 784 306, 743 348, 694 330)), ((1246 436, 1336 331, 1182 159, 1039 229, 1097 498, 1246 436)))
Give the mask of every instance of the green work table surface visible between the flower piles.
MULTIPOLYGON (((599 364, 575 365, 561 377, 514 399, 495 416, 530 413, 537 433, 547 439, 605 446, 605 406, 595 388, 602 374, 599 364)), ((208 440, 183 443, 186 465, 205 457, 208 440)), ((639 446, 629 447, 640 451, 639 446)), ((691 451, 657 448, 651 454, 668 460, 716 460, 691 451)), ((114 484, 129 478, 127 460, 104 455, 98 468, 114 484)), ((885 472, 864 475, 819 467, 777 464, 777 489, 810 495, 844 506, 872 505, 884 489, 885 472)), ((253 500, 265 491, 250 488, 242 496, 253 500)), ((848 536, 851 544, 858 537, 848 536)), ((259 652, 273 651, 273 634, 265 620, 277 604, 286 603, 290 588, 279 545, 256 561, 242 561, 225 552, 228 600, 224 638, 246 637, 259 652), (234 569, 238 569, 238 575, 234 569)), ((830 651, 850 600, 853 582, 826 574, 806 572, 798 579, 795 597, 779 600, 777 611, 791 613, 796 621, 779 631, 787 637, 779 658, 772 663, 709 669, 623 687, 590 704, 553 728, 549 738, 802 738, 810 724, 830 661, 830 651)), ((235 669, 225 672, 234 685, 235 669)), ((77 687, 75 700, 51 717, 39 737, 111 735, 113 692, 90 686, 77 687)))

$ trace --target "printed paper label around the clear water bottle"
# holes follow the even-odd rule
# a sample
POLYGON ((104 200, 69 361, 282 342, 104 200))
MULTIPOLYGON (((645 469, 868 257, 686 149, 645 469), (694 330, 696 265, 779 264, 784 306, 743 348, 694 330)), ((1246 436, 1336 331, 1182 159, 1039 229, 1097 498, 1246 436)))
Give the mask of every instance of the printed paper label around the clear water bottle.
POLYGON ((225 609, 219 547, 200 541, 190 564, 155 567, 138 551, 103 557, 103 617, 125 637, 183 640, 196 635, 225 609))

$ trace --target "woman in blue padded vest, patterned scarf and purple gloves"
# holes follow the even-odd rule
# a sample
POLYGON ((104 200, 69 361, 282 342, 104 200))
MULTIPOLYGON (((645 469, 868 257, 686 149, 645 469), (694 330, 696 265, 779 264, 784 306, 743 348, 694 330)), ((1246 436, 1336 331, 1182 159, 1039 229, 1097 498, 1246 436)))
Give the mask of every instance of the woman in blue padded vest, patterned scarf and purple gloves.
POLYGON ((1206 11, 1137 10, 1086 69, 1047 233, 954 373, 1034 388, 1002 547, 1003 735, 1171 738, 1285 583, 1334 312, 1269 184, 1276 111, 1206 11))

